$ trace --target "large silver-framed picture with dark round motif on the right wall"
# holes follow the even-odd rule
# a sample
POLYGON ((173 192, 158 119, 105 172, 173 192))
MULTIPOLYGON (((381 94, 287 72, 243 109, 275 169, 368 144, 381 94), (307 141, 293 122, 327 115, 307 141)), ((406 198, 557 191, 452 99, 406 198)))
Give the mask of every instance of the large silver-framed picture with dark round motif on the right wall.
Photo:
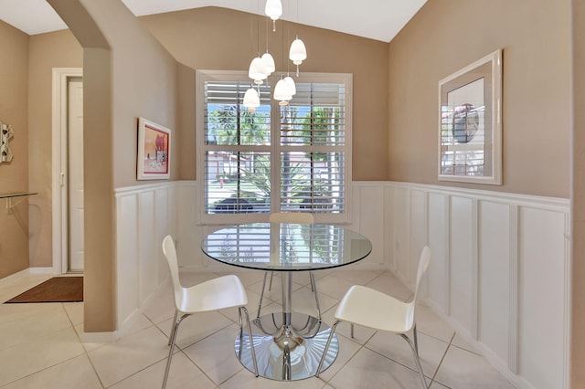
POLYGON ((502 50, 439 81, 439 180, 502 184, 502 50))

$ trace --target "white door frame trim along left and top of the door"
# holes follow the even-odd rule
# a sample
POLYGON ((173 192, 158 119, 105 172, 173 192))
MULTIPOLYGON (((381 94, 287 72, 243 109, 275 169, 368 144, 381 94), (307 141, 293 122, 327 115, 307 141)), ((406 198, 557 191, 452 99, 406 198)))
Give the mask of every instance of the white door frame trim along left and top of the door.
POLYGON ((53 272, 69 268, 69 221, 67 194, 67 125, 69 79, 83 77, 83 68, 53 68, 52 80, 52 246, 53 272))

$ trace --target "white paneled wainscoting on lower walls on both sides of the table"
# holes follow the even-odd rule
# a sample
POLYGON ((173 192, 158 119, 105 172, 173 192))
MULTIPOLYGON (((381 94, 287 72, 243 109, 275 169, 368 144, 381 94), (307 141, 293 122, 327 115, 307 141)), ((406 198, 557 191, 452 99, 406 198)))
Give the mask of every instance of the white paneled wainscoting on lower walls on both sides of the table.
MULTIPOLYGON (((520 388, 569 387, 569 200, 394 182, 355 182, 352 228, 370 238, 355 268, 388 268, 410 287, 429 245, 426 302, 520 388)), ((226 271, 201 239, 197 183, 116 190, 118 331, 167 279, 160 242, 182 271, 226 271)), ((423 296, 425 299, 425 296, 423 296)))

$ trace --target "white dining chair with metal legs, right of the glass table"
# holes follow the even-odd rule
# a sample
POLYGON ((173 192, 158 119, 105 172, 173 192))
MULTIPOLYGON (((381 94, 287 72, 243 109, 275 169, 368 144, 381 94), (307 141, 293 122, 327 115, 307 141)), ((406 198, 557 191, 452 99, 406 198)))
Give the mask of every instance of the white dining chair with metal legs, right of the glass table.
MULTIPOLYGON (((412 355, 414 356, 414 362, 419 371, 420 382, 426 388, 427 383, 422 372, 422 366, 420 365, 415 308, 419 296, 420 279, 422 279, 427 268, 429 268, 430 261, 431 249, 425 246, 420 254, 414 297, 408 302, 397 300, 378 290, 361 285, 354 285, 347 290, 346 295, 339 303, 337 310, 335 310, 335 322, 331 327, 331 333, 325 344, 323 355, 325 356, 327 354, 327 349, 333 339, 335 328, 341 321, 351 323, 352 338, 354 337, 354 324, 378 331, 394 332, 409 343, 412 355), (413 340, 410 340, 407 335, 407 332, 410 330, 412 330, 413 340)), ((319 363, 319 367, 317 367, 317 373, 315 374, 317 377, 321 373, 324 356, 319 363)))

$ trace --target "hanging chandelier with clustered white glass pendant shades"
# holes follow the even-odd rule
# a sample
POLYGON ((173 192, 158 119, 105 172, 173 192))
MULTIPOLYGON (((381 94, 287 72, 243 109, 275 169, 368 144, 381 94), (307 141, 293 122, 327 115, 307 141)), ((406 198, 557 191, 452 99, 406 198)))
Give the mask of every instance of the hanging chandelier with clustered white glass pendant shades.
MULTIPOLYGON (((298 2, 298 0, 297 0, 298 2)), ((267 0, 264 7, 264 13, 272 20, 272 32, 276 31, 276 21, 282 16, 282 2, 281 0, 267 0)), ((297 19, 298 19, 298 3, 297 3, 297 19)), ((260 32, 259 32, 260 35, 260 32)), ((282 40, 284 40, 284 32, 282 32, 282 40)), ((293 44, 289 49, 289 59, 293 61, 296 66, 296 76, 299 77, 299 66, 303 63, 303 60, 307 58, 307 50, 304 46, 303 41, 299 38, 298 34, 293 40, 293 44)), ((248 76, 253 80, 256 89, 250 86, 250 89, 246 90, 244 94, 244 106, 248 107, 250 111, 256 110, 256 107, 260 106, 260 85, 268 76, 276 70, 274 58, 268 52, 268 34, 266 37, 266 52, 260 56, 260 53, 256 58, 253 58, 250 62, 250 68, 248 70, 248 76)), ((294 79, 288 74, 286 77, 283 75, 281 79, 276 83, 273 91, 273 99, 279 100, 279 105, 287 105, 290 100, 293 99, 296 93, 296 85, 294 79)))

